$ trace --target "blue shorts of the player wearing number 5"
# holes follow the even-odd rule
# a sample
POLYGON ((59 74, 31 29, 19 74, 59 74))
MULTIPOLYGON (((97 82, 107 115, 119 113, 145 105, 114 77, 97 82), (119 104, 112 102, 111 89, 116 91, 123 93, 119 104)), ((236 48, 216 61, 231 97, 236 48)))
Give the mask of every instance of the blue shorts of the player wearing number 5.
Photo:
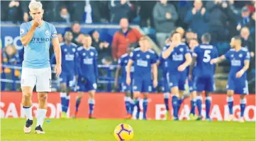
POLYGON ((207 91, 207 92, 214 92, 215 91, 215 81, 213 76, 196 76, 194 78, 195 86, 196 86, 196 91, 197 92, 202 92, 202 91, 207 91))

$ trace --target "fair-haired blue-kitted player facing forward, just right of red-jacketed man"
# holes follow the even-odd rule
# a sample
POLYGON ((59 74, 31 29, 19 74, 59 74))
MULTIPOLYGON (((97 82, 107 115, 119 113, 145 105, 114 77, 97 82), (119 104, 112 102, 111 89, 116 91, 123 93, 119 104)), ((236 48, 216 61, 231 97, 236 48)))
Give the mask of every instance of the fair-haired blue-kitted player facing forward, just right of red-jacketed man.
POLYGON ((153 73, 153 86, 157 87, 157 56, 154 51, 150 49, 150 42, 148 37, 141 37, 139 40, 140 48, 134 49, 130 54, 130 59, 127 64, 126 83, 130 85, 130 71, 131 66, 134 66, 133 73, 133 97, 135 106, 137 106, 136 118, 140 116, 139 96, 143 92, 143 119, 147 119, 148 109, 148 92, 152 91, 151 86, 151 69, 153 73), (152 67, 152 68, 151 68, 152 67))

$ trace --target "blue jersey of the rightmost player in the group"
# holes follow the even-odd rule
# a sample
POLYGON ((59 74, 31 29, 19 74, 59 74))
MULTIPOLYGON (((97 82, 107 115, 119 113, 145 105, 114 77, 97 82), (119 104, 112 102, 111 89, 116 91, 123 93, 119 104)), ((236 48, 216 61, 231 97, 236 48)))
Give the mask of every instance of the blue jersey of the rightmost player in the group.
MULTIPOLYGON (((226 54, 224 54, 225 58, 230 61, 230 72, 228 76, 230 78, 235 78, 236 73, 240 71, 243 66, 245 66, 244 61, 250 61, 250 53, 248 49, 242 47, 240 51, 235 51, 235 49, 230 49, 226 54)), ((241 78, 246 78, 246 72, 243 74, 241 78)))

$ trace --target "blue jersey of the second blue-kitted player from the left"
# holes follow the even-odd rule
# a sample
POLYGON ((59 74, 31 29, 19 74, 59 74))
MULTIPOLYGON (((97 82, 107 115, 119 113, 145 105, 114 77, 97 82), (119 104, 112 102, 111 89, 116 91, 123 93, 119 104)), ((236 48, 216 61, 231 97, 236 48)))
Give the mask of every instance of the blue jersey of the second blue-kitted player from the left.
POLYGON ((84 49, 84 47, 77 48, 77 69, 79 76, 96 80, 98 77, 97 56, 98 53, 94 47, 90 47, 89 49, 84 49))

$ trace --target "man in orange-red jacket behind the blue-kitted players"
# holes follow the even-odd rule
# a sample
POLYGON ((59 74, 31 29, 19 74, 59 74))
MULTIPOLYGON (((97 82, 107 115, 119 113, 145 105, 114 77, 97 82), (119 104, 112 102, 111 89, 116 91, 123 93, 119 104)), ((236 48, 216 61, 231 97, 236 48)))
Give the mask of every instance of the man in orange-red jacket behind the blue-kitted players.
POLYGON ((118 61, 123 54, 126 54, 128 44, 138 44, 138 40, 142 37, 138 30, 129 27, 127 18, 121 18, 120 27, 121 29, 113 35, 112 56, 114 61, 118 61))

